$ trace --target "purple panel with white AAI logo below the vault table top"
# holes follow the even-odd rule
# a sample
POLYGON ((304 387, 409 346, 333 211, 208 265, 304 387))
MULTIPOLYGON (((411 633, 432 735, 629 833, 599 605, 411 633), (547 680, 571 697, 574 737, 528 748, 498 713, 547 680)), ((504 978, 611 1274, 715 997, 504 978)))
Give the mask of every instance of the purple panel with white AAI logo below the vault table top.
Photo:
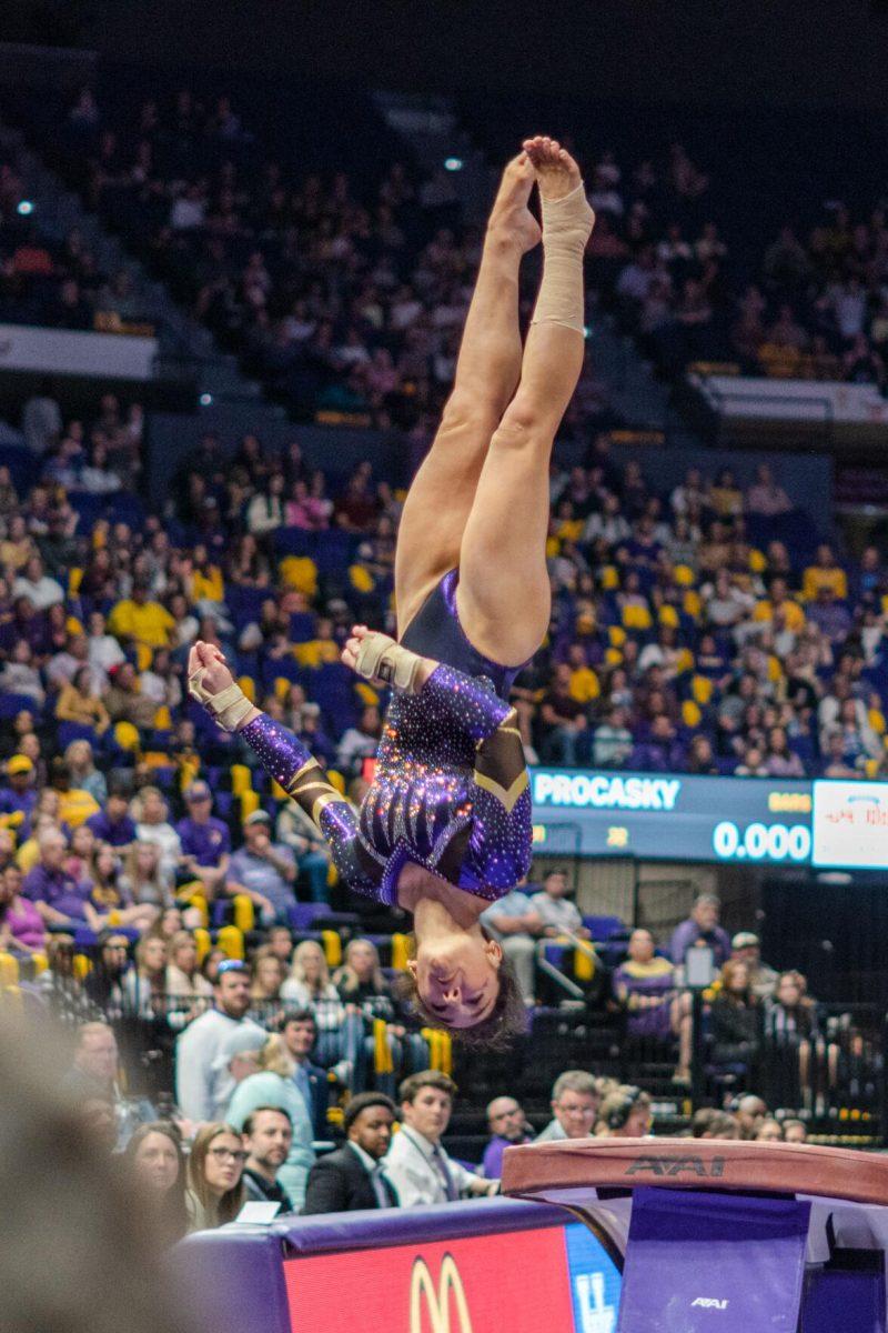
POLYGON ((635 1190, 618 1333, 796 1333, 809 1209, 635 1190))

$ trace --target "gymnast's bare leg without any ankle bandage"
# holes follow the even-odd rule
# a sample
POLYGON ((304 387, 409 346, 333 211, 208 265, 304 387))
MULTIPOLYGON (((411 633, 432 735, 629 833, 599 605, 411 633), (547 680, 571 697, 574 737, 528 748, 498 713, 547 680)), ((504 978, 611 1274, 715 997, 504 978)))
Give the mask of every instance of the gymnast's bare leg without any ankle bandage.
POLYGON ((398 636, 439 580, 459 564, 459 545, 490 439, 521 373, 518 269, 539 241, 527 209, 534 171, 526 153, 509 163, 462 335, 453 392, 434 444, 414 477, 395 555, 398 636))

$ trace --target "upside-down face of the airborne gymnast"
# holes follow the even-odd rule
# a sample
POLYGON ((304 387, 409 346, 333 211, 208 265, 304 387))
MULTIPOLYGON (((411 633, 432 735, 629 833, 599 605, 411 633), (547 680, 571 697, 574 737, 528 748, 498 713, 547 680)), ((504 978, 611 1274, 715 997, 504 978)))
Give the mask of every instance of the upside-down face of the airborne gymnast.
POLYGON ((447 1028, 474 1028, 497 1004, 502 956, 495 940, 461 930, 418 944, 407 969, 430 1014, 447 1028))

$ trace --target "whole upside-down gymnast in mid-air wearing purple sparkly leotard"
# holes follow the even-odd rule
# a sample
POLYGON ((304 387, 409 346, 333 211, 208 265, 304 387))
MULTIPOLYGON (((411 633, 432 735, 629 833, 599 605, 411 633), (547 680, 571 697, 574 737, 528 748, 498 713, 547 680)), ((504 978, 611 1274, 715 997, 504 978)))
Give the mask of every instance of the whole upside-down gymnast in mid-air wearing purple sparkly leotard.
POLYGON ((359 814, 301 741, 250 704, 217 649, 196 644, 188 668, 193 697, 308 810, 349 888, 413 913, 407 966, 423 1018, 489 1045, 525 1024, 515 978, 478 917, 530 866, 529 777, 506 700, 549 627, 549 460, 583 361, 592 224, 570 153, 526 140, 503 175, 453 392, 405 503, 398 643, 357 625, 342 653, 391 686, 359 814), (518 271, 541 240, 527 208, 534 183, 543 277, 522 352, 518 271))

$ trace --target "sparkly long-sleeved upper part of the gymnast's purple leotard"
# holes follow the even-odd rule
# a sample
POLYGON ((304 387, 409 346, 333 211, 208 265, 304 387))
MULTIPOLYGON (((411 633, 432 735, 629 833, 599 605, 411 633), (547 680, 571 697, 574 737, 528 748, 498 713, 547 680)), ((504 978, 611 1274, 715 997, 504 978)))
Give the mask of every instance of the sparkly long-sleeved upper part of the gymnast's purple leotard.
POLYGON ((241 736, 312 816, 357 893, 394 905, 407 861, 489 901, 527 873, 530 785, 517 716, 483 680, 442 665, 418 694, 393 693, 359 814, 265 713, 241 736))

